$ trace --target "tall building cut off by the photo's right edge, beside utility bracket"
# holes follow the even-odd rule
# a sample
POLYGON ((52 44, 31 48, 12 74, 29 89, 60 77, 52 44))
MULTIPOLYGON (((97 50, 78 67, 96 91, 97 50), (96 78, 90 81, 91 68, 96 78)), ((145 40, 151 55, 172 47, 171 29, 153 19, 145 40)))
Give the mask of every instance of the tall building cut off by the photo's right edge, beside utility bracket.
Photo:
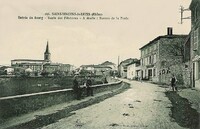
POLYGON ((192 0, 190 10, 192 86, 200 89, 200 0, 192 0))

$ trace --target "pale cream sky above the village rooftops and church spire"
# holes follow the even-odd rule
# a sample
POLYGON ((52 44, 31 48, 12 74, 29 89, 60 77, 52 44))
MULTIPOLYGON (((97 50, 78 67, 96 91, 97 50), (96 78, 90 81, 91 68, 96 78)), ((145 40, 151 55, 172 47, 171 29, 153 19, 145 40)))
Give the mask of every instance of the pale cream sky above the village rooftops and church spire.
MULTIPOLYGON (((188 34, 190 20, 180 24, 180 5, 191 0, 0 0, 0 65, 12 59, 43 59, 49 42, 52 62, 118 63, 140 58, 143 45, 157 36, 188 34), (99 13, 114 20, 48 19, 52 13, 99 13), (37 16, 44 19, 19 19, 37 16), (116 19, 123 17, 125 19, 116 19)), ((190 12, 185 12, 190 16, 190 12)), ((61 15, 64 17, 63 15, 61 15)), ((83 18, 82 16, 75 16, 83 18)), ((58 18, 58 15, 56 15, 58 18)))

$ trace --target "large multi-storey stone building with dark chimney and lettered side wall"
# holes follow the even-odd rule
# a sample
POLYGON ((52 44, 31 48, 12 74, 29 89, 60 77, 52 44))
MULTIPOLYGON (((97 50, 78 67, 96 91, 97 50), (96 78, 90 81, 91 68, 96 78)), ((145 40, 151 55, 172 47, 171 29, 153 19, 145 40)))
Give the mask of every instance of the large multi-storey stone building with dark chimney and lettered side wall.
POLYGON ((183 44, 187 35, 174 35, 171 27, 167 35, 158 36, 140 48, 141 76, 143 80, 169 83, 171 74, 175 74, 183 83, 183 44))

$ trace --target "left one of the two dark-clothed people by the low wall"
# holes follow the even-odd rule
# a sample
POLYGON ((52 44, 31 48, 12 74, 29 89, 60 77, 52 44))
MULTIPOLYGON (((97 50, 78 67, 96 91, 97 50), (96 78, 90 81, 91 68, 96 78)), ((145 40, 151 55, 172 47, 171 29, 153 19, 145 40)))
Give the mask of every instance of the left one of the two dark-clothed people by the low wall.
POLYGON ((75 76, 74 80, 73 80, 73 91, 74 91, 74 94, 76 96, 76 99, 80 100, 81 99, 81 89, 80 89, 80 86, 78 84, 77 76, 75 76))

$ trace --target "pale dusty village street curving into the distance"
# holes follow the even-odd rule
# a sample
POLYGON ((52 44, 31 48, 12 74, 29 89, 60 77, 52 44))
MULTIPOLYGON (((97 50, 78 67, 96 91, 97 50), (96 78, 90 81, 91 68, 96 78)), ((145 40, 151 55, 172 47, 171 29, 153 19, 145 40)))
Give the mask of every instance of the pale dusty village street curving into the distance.
POLYGON ((98 104, 75 111, 43 129, 182 129, 170 117, 171 101, 165 89, 128 81, 131 88, 98 104))

